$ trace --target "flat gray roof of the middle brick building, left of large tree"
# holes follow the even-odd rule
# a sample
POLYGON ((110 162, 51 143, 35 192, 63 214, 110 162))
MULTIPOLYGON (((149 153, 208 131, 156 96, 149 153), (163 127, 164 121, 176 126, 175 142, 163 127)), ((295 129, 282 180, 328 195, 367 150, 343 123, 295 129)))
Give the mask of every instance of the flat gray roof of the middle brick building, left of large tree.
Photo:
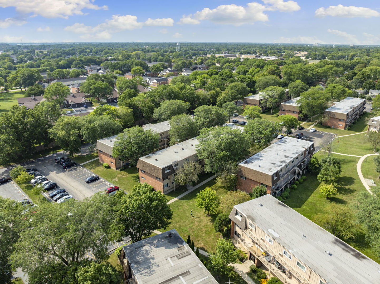
POLYGON ((196 139, 196 137, 191 138, 189 140, 180 142, 176 145, 167 147, 160 151, 141 157, 140 160, 150 163, 159 168, 164 168, 175 162, 184 160, 192 155, 195 155, 196 144, 198 144, 198 140, 196 139), (155 159, 157 159, 157 161, 155 159))

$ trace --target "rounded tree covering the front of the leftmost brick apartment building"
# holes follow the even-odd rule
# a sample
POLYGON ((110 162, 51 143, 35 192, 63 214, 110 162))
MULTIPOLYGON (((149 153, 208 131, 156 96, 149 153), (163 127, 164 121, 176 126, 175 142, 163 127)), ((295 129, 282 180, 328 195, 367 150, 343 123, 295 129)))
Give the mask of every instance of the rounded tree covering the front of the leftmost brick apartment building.
POLYGON ((160 135, 151 129, 144 130, 139 126, 127 128, 117 135, 112 155, 136 165, 140 157, 158 149, 158 140, 160 135))

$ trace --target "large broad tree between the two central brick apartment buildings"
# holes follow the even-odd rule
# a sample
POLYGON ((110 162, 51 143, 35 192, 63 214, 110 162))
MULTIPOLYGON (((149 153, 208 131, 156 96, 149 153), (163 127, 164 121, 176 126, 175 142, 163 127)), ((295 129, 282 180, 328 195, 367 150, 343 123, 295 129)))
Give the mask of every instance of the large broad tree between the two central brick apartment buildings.
POLYGON ((249 139, 239 129, 204 128, 198 142, 195 149, 198 158, 205 162, 206 173, 220 173, 225 165, 235 164, 249 154, 249 139))

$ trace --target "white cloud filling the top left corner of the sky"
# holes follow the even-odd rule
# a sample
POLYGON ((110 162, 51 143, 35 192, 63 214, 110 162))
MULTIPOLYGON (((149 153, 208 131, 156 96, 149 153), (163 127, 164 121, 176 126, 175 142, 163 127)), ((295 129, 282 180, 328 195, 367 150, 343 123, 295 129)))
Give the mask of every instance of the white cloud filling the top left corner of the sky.
POLYGON ((32 16, 64 18, 83 15, 82 9, 107 10, 107 6, 93 4, 94 0, 0 0, 0 7, 15 7, 19 13, 33 13, 32 16))

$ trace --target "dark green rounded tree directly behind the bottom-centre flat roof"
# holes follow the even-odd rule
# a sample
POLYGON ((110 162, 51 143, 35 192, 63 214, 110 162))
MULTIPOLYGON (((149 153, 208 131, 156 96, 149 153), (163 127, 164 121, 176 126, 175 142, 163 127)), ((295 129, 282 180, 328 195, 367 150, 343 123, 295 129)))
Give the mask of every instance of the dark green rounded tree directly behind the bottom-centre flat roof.
POLYGON ((165 229, 173 216, 168 199, 146 183, 135 185, 130 193, 121 196, 119 203, 121 237, 130 237, 133 243, 150 236, 154 230, 165 229))

